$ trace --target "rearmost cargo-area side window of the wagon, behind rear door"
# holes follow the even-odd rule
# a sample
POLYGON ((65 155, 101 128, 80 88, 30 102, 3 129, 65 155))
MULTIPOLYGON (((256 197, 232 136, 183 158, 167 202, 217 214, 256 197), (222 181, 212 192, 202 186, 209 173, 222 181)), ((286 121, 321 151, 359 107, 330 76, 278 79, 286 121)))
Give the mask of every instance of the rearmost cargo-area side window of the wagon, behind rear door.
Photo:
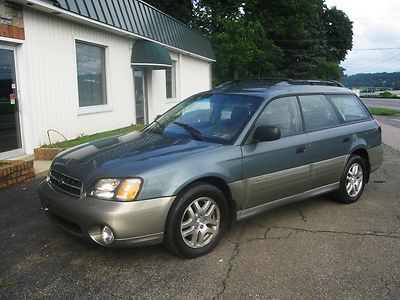
POLYGON ((360 103, 360 100, 353 95, 330 96, 333 105, 337 108, 343 121, 346 123, 369 119, 369 113, 360 103))

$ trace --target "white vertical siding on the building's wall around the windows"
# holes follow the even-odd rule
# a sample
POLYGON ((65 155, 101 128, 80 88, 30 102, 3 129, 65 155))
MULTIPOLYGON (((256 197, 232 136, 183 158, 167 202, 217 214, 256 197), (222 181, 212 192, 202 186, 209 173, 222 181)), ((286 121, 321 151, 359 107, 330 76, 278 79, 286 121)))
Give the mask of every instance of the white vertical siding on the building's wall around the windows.
MULTIPOLYGON (((26 153, 48 143, 48 129, 71 139, 135 122, 131 39, 31 9, 24 10, 24 24, 26 41, 17 47, 17 69, 26 153), (97 107, 97 112, 79 108, 75 40, 106 47, 108 103, 97 107)), ((165 71, 149 71, 150 121, 180 100, 211 87, 208 62, 177 53, 171 56, 178 61, 177 98, 166 99, 165 71)), ((52 134, 52 140, 60 137, 52 134)))

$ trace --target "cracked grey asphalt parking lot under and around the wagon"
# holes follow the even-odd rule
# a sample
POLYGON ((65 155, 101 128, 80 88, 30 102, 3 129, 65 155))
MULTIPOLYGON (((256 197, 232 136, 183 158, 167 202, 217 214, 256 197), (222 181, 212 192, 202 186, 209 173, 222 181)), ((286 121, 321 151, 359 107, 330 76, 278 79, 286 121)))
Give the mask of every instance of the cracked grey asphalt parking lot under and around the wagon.
POLYGON ((42 215, 38 182, 0 193, 1 299, 400 298, 400 153, 388 147, 357 203, 269 211, 195 260, 88 245, 42 215))

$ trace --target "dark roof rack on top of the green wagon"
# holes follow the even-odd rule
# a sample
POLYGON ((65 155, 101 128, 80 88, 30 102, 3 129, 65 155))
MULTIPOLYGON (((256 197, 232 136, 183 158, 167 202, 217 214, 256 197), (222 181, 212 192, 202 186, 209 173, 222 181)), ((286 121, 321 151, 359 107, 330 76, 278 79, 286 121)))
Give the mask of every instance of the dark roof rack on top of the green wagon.
POLYGON ((291 78, 244 78, 244 79, 236 79, 224 82, 219 86, 217 86, 216 88, 222 88, 227 85, 246 83, 246 82, 273 83, 272 85, 279 83, 287 83, 293 85, 329 85, 329 86, 344 87, 340 82, 336 80, 305 80, 305 79, 291 79, 291 78))

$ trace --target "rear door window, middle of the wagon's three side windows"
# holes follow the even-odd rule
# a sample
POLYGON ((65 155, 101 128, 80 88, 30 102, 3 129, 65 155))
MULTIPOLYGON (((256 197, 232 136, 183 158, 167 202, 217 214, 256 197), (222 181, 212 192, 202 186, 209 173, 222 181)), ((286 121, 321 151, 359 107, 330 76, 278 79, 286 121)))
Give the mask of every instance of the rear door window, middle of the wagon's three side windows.
POLYGON ((299 98, 306 131, 339 125, 336 113, 323 95, 300 96, 299 98))

